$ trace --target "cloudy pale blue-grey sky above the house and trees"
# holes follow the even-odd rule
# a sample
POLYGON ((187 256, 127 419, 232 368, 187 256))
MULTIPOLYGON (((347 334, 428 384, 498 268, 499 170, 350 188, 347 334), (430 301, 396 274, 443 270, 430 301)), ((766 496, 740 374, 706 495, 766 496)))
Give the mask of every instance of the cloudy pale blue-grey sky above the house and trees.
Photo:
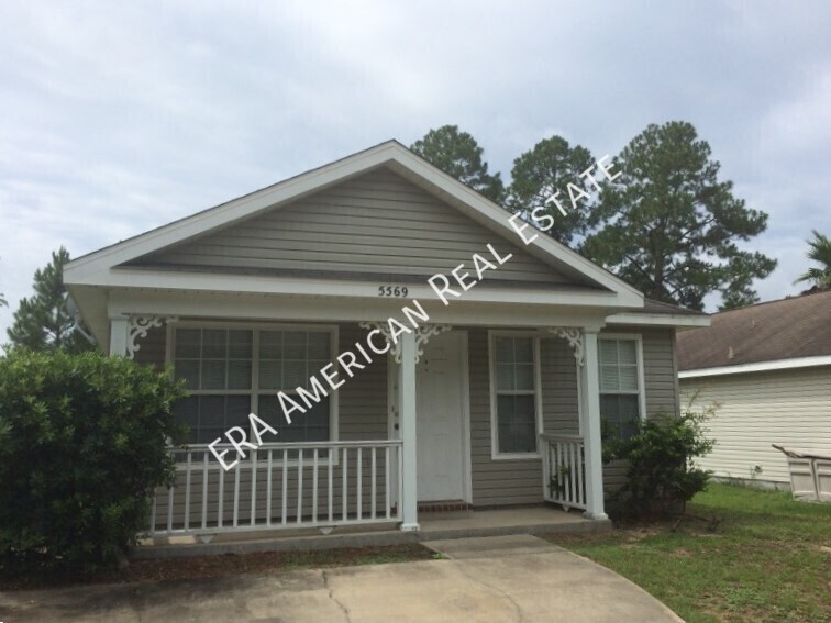
POLYGON ((34 270, 388 138, 458 124, 508 177, 561 134, 691 122, 795 293, 831 233, 831 4, 0 4, 0 342, 34 270))

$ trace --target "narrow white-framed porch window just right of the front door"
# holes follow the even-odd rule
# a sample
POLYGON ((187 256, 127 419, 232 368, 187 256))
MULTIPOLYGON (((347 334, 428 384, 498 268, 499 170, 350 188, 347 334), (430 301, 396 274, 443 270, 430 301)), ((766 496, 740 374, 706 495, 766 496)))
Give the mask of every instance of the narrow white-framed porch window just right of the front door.
POLYGON ((496 336, 491 345, 496 453, 536 453, 536 356, 533 338, 496 336))

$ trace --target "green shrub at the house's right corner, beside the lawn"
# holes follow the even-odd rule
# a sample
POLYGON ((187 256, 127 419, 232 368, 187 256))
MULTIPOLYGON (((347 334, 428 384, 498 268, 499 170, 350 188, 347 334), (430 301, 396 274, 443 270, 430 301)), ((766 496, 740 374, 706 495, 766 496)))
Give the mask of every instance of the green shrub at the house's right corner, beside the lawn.
POLYGON ((612 496, 628 519, 658 519, 683 510, 693 496, 707 487, 709 471, 695 459, 712 450, 702 424, 708 409, 679 416, 657 415, 640 421, 628 438, 603 441, 603 460, 627 461, 627 483, 612 496))

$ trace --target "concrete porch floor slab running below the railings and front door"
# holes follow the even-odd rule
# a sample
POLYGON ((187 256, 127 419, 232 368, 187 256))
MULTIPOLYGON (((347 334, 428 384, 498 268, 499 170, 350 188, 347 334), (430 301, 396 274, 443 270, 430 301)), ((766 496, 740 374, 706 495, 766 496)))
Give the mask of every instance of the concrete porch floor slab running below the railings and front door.
POLYGON ((142 558, 185 558, 215 554, 244 554, 248 552, 295 552, 336 549, 419 543, 469 536, 499 536, 507 534, 543 535, 552 533, 585 533, 611 530, 609 520, 587 520, 580 511, 564 512, 550 505, 497 509, 484 511, 455 511, 420 513, 418 532, 401 532, 395 522, 343 526, 331 534, 318 529, 258 531, 217 534, 210 543, 196 536, 146 538, 132 555, 142 558))

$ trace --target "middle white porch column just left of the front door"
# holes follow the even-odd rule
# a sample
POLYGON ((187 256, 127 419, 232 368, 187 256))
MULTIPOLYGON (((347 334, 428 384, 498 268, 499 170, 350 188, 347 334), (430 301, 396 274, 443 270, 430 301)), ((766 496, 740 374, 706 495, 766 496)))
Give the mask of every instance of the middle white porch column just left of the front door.
POLYGON ((417 493, 418 459, 416 455, 416 336, 405 333, 399 337, 401 364, 398 366, 398 409, 401 435, 401 530, 419 530, 417 493))

